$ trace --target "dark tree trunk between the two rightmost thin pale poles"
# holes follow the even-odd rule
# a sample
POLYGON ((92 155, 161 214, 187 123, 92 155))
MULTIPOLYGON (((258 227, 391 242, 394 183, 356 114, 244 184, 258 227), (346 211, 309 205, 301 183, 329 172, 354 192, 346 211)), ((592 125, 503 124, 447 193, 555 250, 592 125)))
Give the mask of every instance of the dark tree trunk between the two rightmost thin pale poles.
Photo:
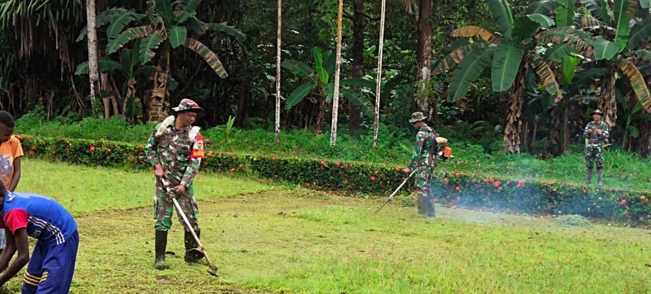
MULTIPOLYGON (((367 19, 364 15, 364 0, 355 0, 353 3, 353 78, 364 77, 364 31, 367 27, 367 19)), ((361 106, 348 101, 348 116, 350 129, 359 129, 361 126, 361 106)))

